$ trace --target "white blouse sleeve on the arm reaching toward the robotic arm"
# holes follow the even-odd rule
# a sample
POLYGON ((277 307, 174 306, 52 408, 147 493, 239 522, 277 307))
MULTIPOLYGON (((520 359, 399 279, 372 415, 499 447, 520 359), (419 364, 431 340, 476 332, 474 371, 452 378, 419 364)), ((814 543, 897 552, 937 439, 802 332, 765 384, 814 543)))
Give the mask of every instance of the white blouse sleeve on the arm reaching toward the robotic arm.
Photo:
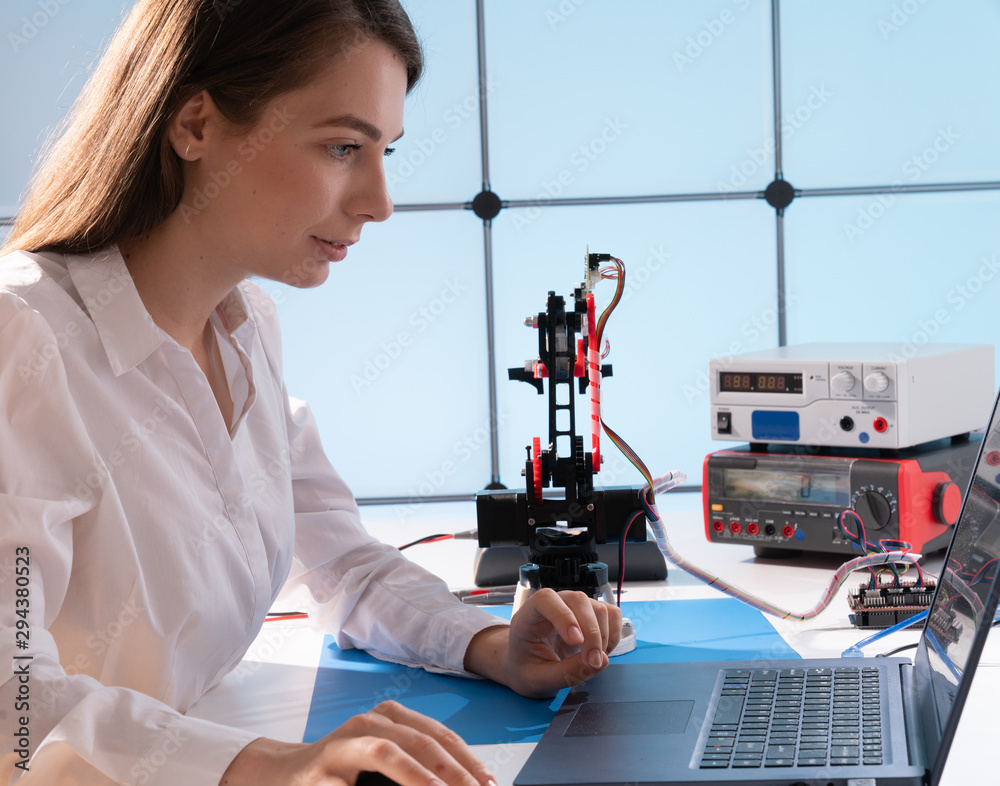
POLYGON ((371 537, 309 408, 290 399, 287 418, 296 528, 289 580, 309 590, 314 624, 336 631, 341 649, 468 676, 472 637, 506 621, 461 603, 440 578, 371 537))

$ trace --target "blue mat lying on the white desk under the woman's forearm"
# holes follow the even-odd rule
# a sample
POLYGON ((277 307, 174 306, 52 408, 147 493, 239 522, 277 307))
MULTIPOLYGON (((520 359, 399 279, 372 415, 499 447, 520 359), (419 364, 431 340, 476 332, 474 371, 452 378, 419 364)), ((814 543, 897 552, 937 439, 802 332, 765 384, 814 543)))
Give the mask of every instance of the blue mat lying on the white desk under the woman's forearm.
MULTIPOLYGON (((487 607, 510 617, 510 606, 487 607)), ((636 649, 612 663, 798 658, 764 616, 732 598, 622 603, 635 625, 636 649)), ((537 742, 567 691, 527 699, 489 680, 431 674, 323 642, 305 742, 388 699, 429 715, 470 745, 537 742)))

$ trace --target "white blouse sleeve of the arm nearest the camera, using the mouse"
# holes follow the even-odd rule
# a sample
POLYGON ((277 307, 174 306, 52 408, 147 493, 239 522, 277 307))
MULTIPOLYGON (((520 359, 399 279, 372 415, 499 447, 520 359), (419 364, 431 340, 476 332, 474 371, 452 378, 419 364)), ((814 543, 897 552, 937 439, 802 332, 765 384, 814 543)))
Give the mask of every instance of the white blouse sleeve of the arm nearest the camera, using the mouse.
POLYGON ((104 465, 59 348, 45 319, 0 293, 0 783, 216 786, 257 735, 60 663, 49 628, 71 574, 87 571, 74 537, 116 503, 80 490, 104 465))

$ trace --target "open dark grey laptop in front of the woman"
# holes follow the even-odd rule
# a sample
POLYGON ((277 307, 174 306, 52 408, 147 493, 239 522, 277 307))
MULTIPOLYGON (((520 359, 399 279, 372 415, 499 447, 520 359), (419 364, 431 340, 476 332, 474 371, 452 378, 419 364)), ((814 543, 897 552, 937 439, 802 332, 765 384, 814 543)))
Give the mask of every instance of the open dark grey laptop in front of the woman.
POLYGON ((514 784, 936 786, 996 612, 998 557, 995 403, 912 664, 612 664, 569 692, 514 784))

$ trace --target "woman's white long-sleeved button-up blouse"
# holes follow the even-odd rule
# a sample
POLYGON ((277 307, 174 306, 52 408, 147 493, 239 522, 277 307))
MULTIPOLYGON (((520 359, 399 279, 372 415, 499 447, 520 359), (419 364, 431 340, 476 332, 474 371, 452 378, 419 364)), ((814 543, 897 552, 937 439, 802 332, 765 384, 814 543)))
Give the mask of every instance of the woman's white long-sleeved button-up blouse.
POLYGON ((245 282, 211 321, 228 427, 117 249, 0 259, 0 783, 215 786, 256 735, 183 713, 286 585, 341 647, 435 670, 498 623, 364 531, 274 303, 245 282))

